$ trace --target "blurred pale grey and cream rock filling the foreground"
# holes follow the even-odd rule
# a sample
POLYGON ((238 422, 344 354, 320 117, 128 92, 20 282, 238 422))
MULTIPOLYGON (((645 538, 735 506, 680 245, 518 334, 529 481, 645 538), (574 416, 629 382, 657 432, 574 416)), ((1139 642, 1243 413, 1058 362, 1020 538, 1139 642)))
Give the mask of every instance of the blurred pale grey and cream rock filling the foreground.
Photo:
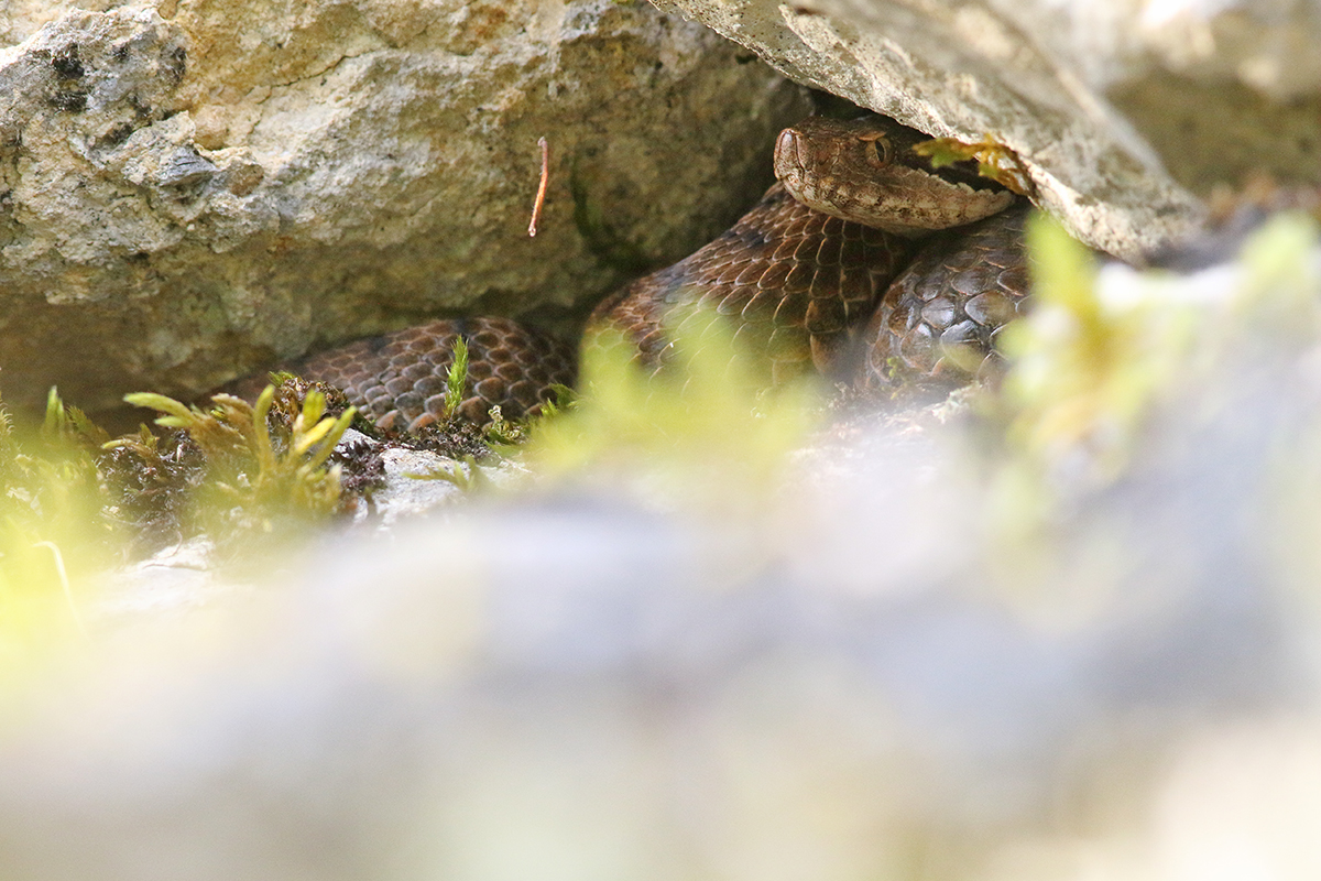
POLYGON ((988 528, 958 431, 860 432, 757 505, 701 472, 663 511, 596 481, 326 536, 7 695, 0 876, 1181 881, 1248 848, 1304 881, 1296 342, 1036 538, 988 528))

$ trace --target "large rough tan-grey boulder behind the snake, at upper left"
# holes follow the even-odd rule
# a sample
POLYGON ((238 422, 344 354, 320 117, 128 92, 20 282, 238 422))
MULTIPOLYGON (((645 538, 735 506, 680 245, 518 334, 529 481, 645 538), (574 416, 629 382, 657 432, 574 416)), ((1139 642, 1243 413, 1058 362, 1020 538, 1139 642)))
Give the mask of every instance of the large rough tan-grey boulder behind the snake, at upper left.
POLYGON ((569 324, 756 201, 806 112, 642 3, 29 3, 0 38, 22 40, 0 50, 0 387, 20 405, 50 384, 92 409, 190 395, 452 312, 569 324))

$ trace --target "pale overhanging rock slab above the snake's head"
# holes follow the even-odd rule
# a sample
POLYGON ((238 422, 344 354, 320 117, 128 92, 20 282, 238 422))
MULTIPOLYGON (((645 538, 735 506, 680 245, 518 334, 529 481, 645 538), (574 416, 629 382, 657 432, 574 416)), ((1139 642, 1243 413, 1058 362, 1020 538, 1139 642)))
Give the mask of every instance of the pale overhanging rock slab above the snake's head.
POLYGON ((989 133, 1085 242, 1137 258, 1196 194, 1258 169, 1321 182, 1312 4, 657 0, 789 77, 938 136, 989 133))

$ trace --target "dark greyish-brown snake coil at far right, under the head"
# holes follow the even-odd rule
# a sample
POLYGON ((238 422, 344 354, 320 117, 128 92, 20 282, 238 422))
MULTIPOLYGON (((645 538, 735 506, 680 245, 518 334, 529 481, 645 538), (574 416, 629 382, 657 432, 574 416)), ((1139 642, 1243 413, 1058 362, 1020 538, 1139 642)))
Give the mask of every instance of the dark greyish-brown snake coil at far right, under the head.
POLYGON ((962 384, 997 371, 996 338, 1028 305, 1026 215, 1011 207, 923 246, 867 326, 859 387, 962 384))

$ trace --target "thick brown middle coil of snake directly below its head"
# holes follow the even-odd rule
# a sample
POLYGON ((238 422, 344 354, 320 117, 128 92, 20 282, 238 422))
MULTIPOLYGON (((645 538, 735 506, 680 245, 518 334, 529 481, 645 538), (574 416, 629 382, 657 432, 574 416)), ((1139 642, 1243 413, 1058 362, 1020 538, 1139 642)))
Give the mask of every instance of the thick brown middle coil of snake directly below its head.
POLYGON ((859 329, 910 251, 909 240, 814 211, 777 184, 720 238, 609 297, 590 324, 620 328, 659 369, 667 328, 691 339, 716 314, 741 351, 766 353, 771 382, 812 366, 843 378, 859 329))

